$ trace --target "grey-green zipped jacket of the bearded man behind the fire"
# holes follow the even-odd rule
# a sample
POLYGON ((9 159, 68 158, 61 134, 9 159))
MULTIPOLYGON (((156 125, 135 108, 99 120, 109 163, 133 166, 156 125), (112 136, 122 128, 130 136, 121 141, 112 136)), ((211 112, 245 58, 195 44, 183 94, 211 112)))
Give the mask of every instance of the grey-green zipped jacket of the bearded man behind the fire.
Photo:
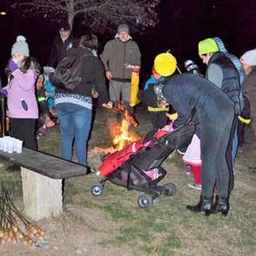
POLYGON ((140 66, 140 57, 138 44, 131 39, 122 42, 118 37, 105 44, 100 56, 105 71, 111 71, 113 80, 131 79, 131 69, 125 68, 125 64, 140 66))

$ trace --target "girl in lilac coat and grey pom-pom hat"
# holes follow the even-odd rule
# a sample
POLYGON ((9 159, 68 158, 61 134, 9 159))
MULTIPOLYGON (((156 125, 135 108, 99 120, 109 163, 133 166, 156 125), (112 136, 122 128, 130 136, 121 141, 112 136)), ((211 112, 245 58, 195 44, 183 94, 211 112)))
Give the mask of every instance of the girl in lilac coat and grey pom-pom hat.
POLYGON ((7 66, 9 84, 2 89, 7 96, 7 115, 10 118, 11 136, 24 141, 24 146, 37 150, 35 133, 38 118, 35 82, 37 74, 30 70, 30 51, 23 36, 11 48, 7 66))

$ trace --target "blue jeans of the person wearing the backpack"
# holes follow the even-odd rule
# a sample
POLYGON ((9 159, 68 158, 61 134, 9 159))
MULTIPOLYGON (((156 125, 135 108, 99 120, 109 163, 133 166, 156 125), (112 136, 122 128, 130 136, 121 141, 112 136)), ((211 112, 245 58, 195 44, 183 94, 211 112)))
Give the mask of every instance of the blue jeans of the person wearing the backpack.
POLYGON ((62 136, 62 158, 71 160, 72 144, 75 139, 78 163, 87 165, 87 141, 91 131, 91 110, 71 103, 57 104, 56 110, 62 136))

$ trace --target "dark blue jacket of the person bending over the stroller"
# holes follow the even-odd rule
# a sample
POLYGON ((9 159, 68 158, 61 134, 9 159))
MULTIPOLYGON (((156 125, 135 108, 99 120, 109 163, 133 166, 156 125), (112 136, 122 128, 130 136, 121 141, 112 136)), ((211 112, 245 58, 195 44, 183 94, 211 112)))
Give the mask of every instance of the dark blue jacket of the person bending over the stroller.
POLYGON ((194 121, 199 121, 199 137, 202 125, 220 125, 222 118, 233 114, 234 104, 226 93, 198 75, 185 73, 170 77, 163 93, 179 114, 174 127, 184 125, 192 110, 196 110, 194 121))

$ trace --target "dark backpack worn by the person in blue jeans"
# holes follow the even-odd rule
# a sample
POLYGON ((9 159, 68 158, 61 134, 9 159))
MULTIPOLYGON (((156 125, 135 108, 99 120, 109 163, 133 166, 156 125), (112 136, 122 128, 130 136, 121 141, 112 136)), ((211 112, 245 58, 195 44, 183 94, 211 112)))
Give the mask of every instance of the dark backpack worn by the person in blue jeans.
POLYGON ((64 57, 55 69, 55 72, 51 76, 53 84, 59 84, 68 90, 74 90, 82 81, 82 65, 83 57, 90 56, 84 54, 80 57, 70 55, 64 57))

